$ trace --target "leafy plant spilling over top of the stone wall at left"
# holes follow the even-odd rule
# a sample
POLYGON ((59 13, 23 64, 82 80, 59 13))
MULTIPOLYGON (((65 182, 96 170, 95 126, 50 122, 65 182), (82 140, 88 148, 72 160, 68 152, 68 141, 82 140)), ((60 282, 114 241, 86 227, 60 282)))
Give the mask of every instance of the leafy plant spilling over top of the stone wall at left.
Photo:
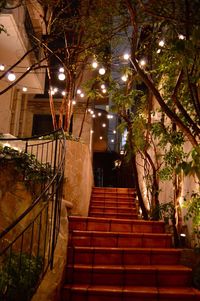
POLYGON ((50 164, 38 162, 33 154, 0 145, 0 166, 9 162, 14 162, 15 169, 24 175, 27 182, 46 182, 51 178, 50 164))

